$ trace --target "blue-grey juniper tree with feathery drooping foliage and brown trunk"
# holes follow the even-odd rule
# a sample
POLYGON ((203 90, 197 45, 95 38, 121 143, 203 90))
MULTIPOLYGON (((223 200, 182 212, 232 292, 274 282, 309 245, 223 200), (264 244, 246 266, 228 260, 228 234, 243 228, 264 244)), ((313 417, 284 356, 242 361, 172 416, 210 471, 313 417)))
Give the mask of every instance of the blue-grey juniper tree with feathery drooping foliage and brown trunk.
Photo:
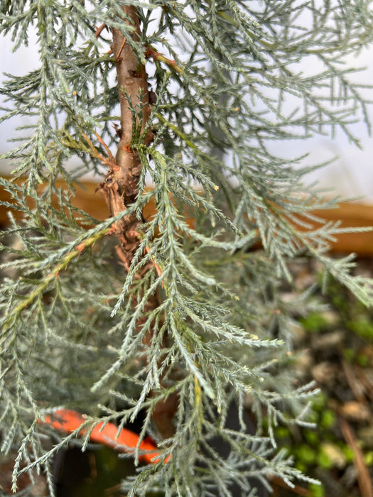
POLYGON ((271 476, 307 481, 274 427, 308 425, 313 387, 295 385, 288 352, 291 310, 306 312, 310 293, 288 302, 281 285, 307 256, 366 305, 372 281, 328 255, 340 225, 312 211, 337 200, 304 187, 313 166, 269 144, 330 129, 357 143, 350 124, 367 121, 367 102, 344 61, 372 40, 370 4, 1 2, 1 33, 16 50, 36 29, 40 58, 1 89, 2 121, 33 119, 1 179, 22 214, 9 211, 21 244, 3 247, 15 277, 1 293, 1 449, 18 449, 14 491, 20 471, 42 469, 53 495, 50 461, 80 432, 45 442, 45 416, 61 406, 86 415, 82 449, 99 422, 120 431, 142 416, 140 441, 151 435, 161 455, 124 479, 129 496, 229 496, 232 484, 254 496, 271 476), (87 172, 104 222, 74 207, 87 172))

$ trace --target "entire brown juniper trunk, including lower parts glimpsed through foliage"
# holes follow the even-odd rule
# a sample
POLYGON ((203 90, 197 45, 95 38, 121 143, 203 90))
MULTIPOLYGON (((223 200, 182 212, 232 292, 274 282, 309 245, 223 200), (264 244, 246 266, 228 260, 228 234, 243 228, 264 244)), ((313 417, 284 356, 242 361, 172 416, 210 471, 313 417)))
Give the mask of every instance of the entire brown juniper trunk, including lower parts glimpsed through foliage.
MULTIPOLYGON (((132 33, 134 41, 140 40, 141 30, 136 8, 134 6, 124 6, 123 11, 127 23, 134 26, 132 33)), ((115 161, 110 166, 104 182, 100 185, 100 189, 109 205, 112 216, 115 216, 126 209, 129 204, 135 202, 136 197, 139 195, 139 179, 141 177, 142 165, 139 154, 131 148, 131 141, 134 124, 136 128, 141 125, 141 131, 144 131, 148 124, 151 108, 144 65, 138 60, 131 45, 119 30, 112 28, 112 34, 112 52, 116 60, 121 110, 120 141, 115 161), (134 120, 133 109, 142 109, 141 121, 138 117, 134 120)), ((151 143, 152 139, 153 133, 151 129, 146 133, 144 132, 143 143, 146 146, 151 143)), ((114 234, 119 239, 117 253, 126 271, 129 270, 134 253, 139 248, 140 240, 137 233, 139 223, 139 219, 136 216, 129 215, 113 224, 114 234)), ((154 265, 148 263, 141 268, 141 274, 144 274, 146 271, 154 271, 154 265)), ((146 305, 147 308, 144 310, 145 314, 158 307, 159 303, 158 294, 149 297, 146 305)), ((136 305, 137 302, 134 301, 134 307, 136 305)), ((139 329, 144 324, 144 320, 145 318, 139 319, 137 322, 139 329)), ((150 331, 146 334, 144 339, 146 344, 151 342, 152 333, 150 331)), ((172 420, 176 408, 177 395, 170 395, 166 402, 158 403, 153 410, 153 420, 156 423, 158 432, 163 438, 173 435, 172 420)))

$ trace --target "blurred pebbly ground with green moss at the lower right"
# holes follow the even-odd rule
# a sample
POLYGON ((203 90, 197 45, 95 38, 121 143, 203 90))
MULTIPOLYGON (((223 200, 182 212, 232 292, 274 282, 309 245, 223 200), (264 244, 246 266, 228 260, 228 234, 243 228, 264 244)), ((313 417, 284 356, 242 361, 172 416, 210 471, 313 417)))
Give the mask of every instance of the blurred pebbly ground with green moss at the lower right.
MULTIPOLYGON (((359 258, 355 273, 372 278, 372 258, 359 258)), ((300 290, 314 283, 315 297, 328 306, 295 316, 298 378, 315 381, 320 393, 313 403, 315 429, 279 427, 277 437, 295 465, 321 485, 290 489, 276 480, 274 496, 373 497, 373 310, 333 281, 322 293, 313 262, 295 264, 293 275, 300 290)))

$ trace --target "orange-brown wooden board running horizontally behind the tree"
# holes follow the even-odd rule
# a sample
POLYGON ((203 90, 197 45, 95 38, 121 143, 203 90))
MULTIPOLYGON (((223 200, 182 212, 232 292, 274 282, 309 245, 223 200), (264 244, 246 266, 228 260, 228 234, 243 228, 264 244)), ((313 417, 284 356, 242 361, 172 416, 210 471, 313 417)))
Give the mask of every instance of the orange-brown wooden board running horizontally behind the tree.
MULTIPOLYGON (((63 182, 57 182, 62 187, 63 182)), ((109 216, 109 209, 102 195, 97 191, 98 183, 82 182, 82 187, 77 187, 73 200, 75 207, 84 210, 92 217, 100 221, 109 216)), ((40 187, 41 190, 42 186, 40 187)), ((10 201, 10 195, 0 187, 0 200, 10 201)), ((8 222, 8 208, 0 205, 0 224, 8 222)), ((147 219, 155 211, 153 203, 149 203, 144 209, 144 217, 147 219)), ((16 211, 13 214, 18 217, 16 211)), ((373 226, 373 205, 364 203, 342 202, 337 209, 317 210, 315 214, 328 221, 342 221, 345 227, 373 226)), ((364 233, 340 234, 337 241, 330 244, 331 251, 343 253, 355 252, 360 256, 373 256, 373 231, 364 233)))

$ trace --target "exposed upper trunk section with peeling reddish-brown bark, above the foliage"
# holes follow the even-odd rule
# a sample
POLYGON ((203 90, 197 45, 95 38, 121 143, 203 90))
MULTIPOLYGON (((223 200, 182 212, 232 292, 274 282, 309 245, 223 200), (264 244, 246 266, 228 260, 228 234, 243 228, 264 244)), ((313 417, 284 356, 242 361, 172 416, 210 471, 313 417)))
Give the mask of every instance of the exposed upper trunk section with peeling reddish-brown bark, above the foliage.
MULTIPOLYGON (((124 6, 124 18, 127 23, 134 26, 131 36, 134 40, 141 38, 139 16, 134 6, 124 6)), ((120 141, 115 161, 109 167, 109 172, 100 185, 100 190, 109 205, 112 216, 124 211, 126 207, 136 200, 139 195, 139 178, 142 165, 139 154, 131 149, 133 133, 133 116, 131 107, 137 109, 142 100, 142 123, 144 130, 151 113, 148 101, 148 83, 146 80, 145 67, 136 58, 134 50, 127 42, 124 35, 117 29, 112 28, 113 43, 112 52, 116 60, 117 81, 120 102, 120 141), (131 104, 129 103, 131 102, 131 104)), ((139 126, 139 122, 136 123, 139 126)), ((151 130, 144 136, 144 144, 151 143, 151 130)), ((120 257, 125 268, 128 270, 134 252, 139 246, 139 238, 136 235, 136 226, 139 220, 133 216, 126 216, 120 222, 114 224, 113 229, 120 241, 120 257)))

